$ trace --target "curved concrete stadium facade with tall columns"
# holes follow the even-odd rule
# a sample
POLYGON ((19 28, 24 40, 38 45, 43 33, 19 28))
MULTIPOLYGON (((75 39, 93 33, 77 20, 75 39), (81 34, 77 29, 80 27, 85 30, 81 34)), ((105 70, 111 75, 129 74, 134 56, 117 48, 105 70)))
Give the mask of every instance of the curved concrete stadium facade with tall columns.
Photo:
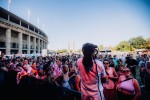
POLYGON ((1 53, 40 54, 47 45, 48 37, 42 30, 0 7, 1 53))

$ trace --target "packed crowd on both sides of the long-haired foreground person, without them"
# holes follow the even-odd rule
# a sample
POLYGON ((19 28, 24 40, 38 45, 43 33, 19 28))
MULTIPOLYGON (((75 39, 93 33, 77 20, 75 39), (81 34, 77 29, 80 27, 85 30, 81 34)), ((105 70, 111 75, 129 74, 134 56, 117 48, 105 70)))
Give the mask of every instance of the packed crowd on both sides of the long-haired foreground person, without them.
MULTIPOLYGON (((0 68, 6 72, 10 70, 16 71, 17 84, 20 83, 20 80, 24 76, 29 76, 80 92, 80 75, 76 66, 76 62, 80 57, 82 55, 79 54, 52 55, 46 57, 33 56, 30 58, 15 57, 11 59, 1 57, 0 68)), ((121 98, 121 94, 119 93, 120 88, 127 95, 135 94, 137 97, 140 96, 141 92, 139 82, 136 79, 136 68, 139 68, 142 85, 145 85, 145 77, 150 76, 150 57, 148 55, 137 54, 136 59, 133 59, 133 54, 100 54, 97 55, 96 59, 102 61, 106 73, 109 76, 107 82, 103 84, 106 100, 110 100, 110 97, 116 98, 116 91, 118 91, 118 95, 121 98), (134 79, 133 82, 127 83, 131 83, 129 88, 125 86, 125 77, 126 79, 127 77, 134 79)))

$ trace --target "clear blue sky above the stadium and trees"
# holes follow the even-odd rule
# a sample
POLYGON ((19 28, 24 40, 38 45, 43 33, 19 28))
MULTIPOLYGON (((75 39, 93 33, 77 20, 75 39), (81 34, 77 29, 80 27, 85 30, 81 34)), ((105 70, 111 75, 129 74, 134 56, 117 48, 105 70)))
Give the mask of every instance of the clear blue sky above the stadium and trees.
MULTIPOLYGON (((8 0, 0 0, 7 9, 8 0)), ((150 37, 150 0, 11 0, 10 11, 49 38, 48 49, 79 49, 82 44, 115 46, 132 37, 150 37)))

